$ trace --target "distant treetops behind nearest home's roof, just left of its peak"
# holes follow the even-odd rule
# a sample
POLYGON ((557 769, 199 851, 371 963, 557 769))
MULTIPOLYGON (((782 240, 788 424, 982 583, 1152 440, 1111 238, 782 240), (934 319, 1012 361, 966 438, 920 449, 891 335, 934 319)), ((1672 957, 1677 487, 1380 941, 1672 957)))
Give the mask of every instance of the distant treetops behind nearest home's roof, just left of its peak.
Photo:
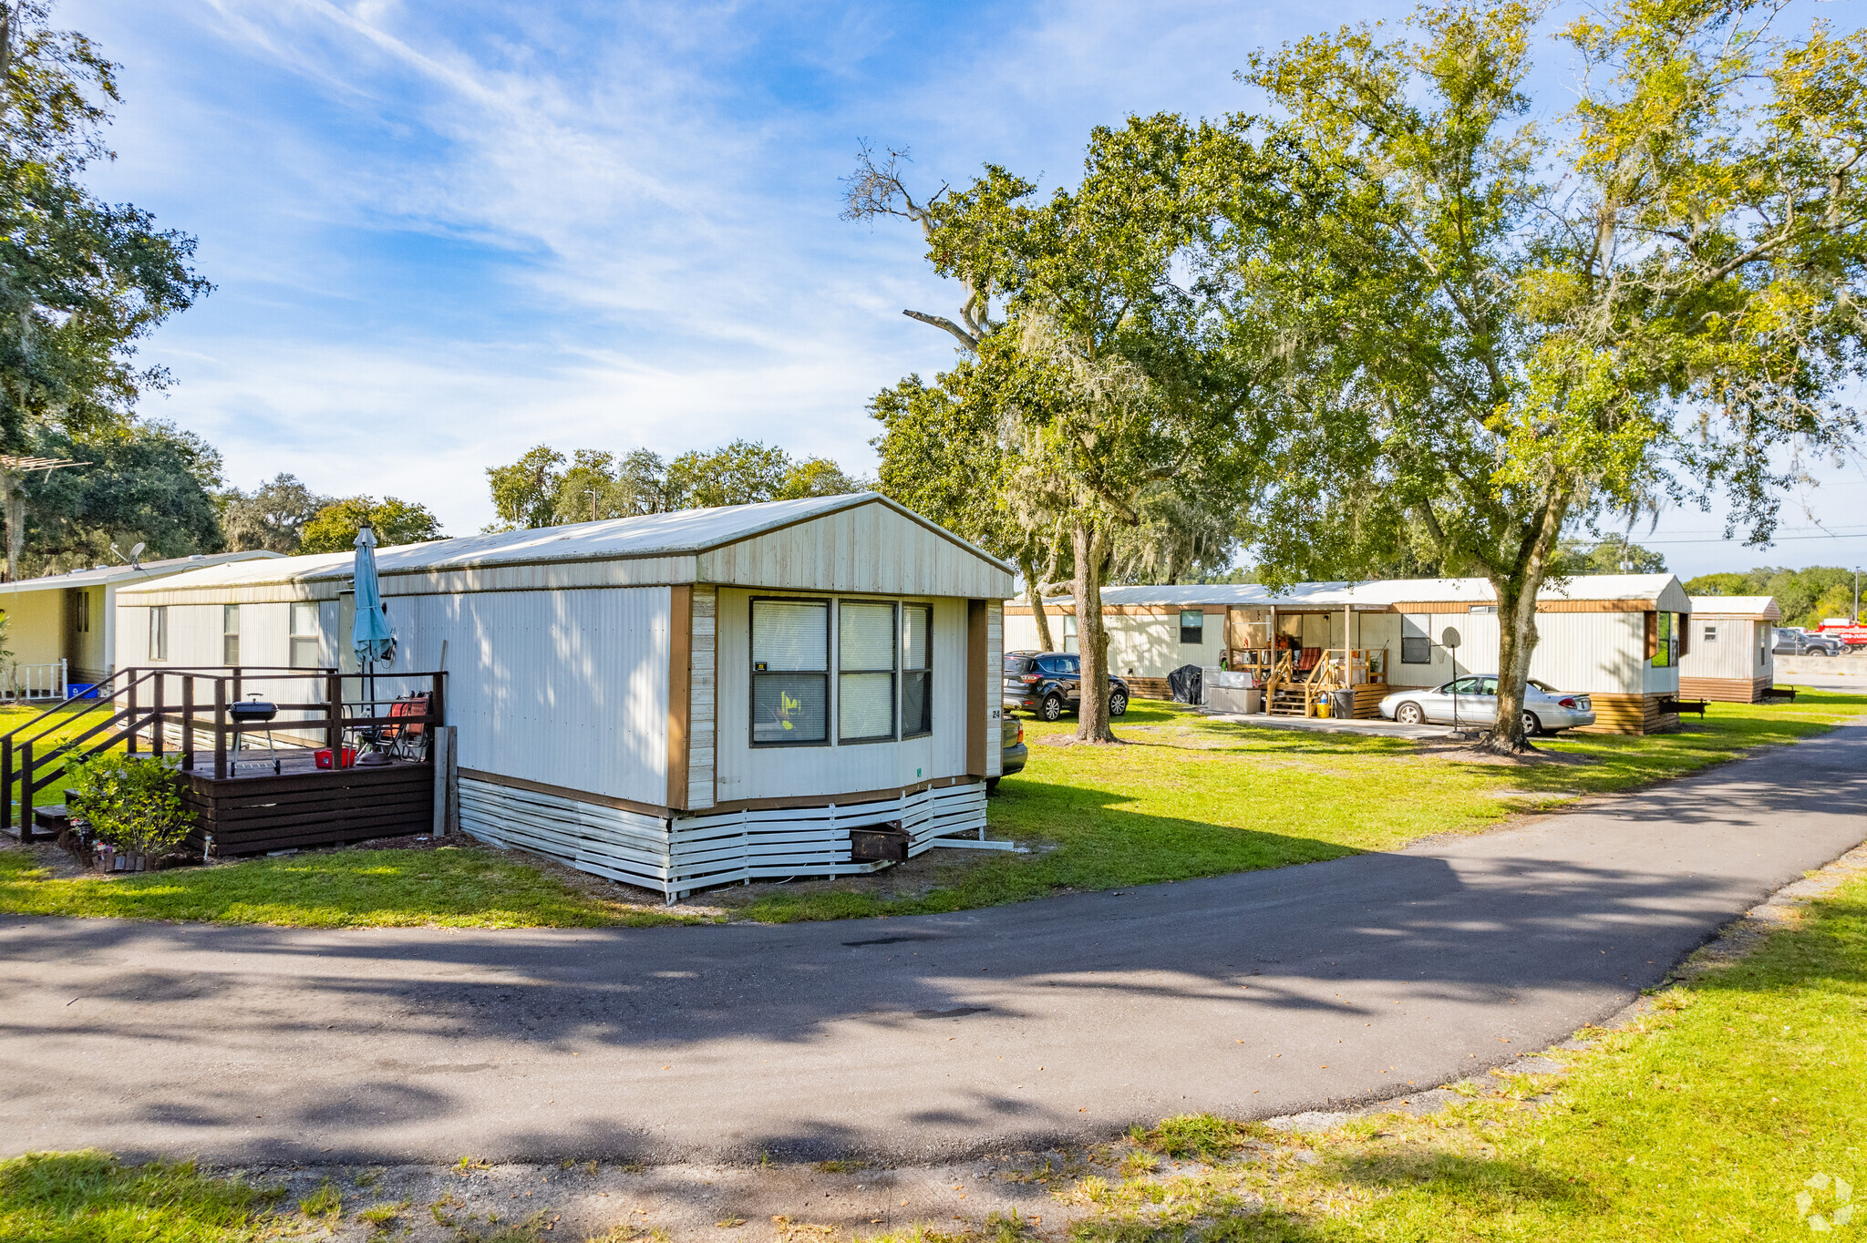
POLYGON ((827 457, 792 457, 758 440, 689 450, 672 461, 646 448, 622 454, 575 450, 568 459, 549 444, 519 461, 487 467, 495 530, 564 526, 599 519, 672 513, 762 500, 842 496, 864 482, 827 457))

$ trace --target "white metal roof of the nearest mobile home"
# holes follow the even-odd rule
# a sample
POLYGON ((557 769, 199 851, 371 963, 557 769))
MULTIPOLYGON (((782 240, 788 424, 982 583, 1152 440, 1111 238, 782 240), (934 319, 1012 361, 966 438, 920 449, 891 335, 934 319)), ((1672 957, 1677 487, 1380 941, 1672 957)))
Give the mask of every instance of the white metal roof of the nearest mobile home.
MULTIPOLYGON (((569 526, 538 526, 487 536, 456 536, 426 543, 403 543, 375 551, 377 573, 383 577, 472 569, 487 566, 540 566, 551 562, 599 562, 646 556, 685 556, 751 539, 782 526, 840 513, 857 506, 887 506, 926 526, 945 539, 1006 573, 1014 567, 990 552, 954 536, 945 526, 930 523, 913 510, 879 493, 851 493, 846 496, 808 496, 805 500, 767 500, 751 506, 715 506, 709 510, 678 510, 640 517, 575 523, 569 526)), ((265 566, 217 566, 200 569, 187 579, 164 582, 164 590, 254 586, 273 582, 312 582, 349 579, 355 567, 353 552, 314 552, 288 556, 265 566)))

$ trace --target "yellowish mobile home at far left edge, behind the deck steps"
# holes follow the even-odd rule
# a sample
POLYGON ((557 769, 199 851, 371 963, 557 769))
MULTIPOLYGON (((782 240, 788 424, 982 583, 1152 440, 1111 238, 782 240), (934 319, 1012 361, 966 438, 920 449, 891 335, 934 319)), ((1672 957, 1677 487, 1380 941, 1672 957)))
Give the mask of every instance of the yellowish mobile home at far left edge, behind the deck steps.
POLYGON ((0 582, 0 616, 7 620, 6 646, 17 664, 22 691, 34 696, 58 692, 60 677, 95 683, 110 676, 116 649, 116 594, 119 588, 155 582, 190 569, 276 558, 278 552, 215 552, 174 556, 138 566, 95 566, 63 575, 0 582))

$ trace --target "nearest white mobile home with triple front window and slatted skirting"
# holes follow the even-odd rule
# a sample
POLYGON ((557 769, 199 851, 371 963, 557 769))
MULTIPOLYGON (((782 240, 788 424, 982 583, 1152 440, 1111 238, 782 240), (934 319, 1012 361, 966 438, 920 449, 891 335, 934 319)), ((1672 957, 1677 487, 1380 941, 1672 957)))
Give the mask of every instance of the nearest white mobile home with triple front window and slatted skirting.
MULTIPOLYGON (((127 664, 342 666, 349 554, 118 597, 127 664), (157 648, 161 640, 161 648, 157 648)), ((1010 567, 863 493, 381 549, 394 670, 446 670, 459 814, 670 898, 982 831, 1010 567)), ((383 666, 379 666, 381 670, 383 666)), ((258 685, 258 683, 256 683, 258 685)))

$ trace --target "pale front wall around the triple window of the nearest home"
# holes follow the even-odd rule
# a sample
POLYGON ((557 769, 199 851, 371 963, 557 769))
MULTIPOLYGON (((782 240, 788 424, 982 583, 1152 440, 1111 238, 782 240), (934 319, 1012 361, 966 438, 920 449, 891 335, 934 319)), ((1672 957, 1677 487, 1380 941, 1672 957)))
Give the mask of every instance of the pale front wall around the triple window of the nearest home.
MULTIPOLYGON (((715 799, 793 799, 911 786, 965 775, 965 607, 934 605, 934 733, 853 747, 760 747, 751 741, 751 599, 765 592, 719 592, 719 730, 715 799)), ((913 595, 902 599, 917 599, 913 595)), ((831 635, 835 635, 835 625, 831 635)), ((835 668, 835 653, 831 666, 835 668)), ((835 711, 831 713, 835 722, 835 711)), ((835 730, 835 724, 831 726, 835 730)), ((463 761, 465 763, 465 761, 463 761)))

